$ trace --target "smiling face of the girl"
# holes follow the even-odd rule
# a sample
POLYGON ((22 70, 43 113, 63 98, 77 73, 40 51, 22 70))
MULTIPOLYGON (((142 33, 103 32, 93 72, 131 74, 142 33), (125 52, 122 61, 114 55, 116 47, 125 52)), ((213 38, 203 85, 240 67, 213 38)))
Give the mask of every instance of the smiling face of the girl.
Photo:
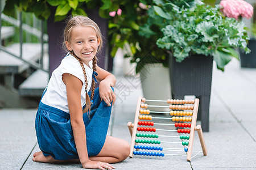
POLYGON ((92 27, 75 27, 71 32, 71 41, 66 41, 68 50, 73 50, 82 62, 89 66, 89 61, 96 55, 100 39, 92 27))

